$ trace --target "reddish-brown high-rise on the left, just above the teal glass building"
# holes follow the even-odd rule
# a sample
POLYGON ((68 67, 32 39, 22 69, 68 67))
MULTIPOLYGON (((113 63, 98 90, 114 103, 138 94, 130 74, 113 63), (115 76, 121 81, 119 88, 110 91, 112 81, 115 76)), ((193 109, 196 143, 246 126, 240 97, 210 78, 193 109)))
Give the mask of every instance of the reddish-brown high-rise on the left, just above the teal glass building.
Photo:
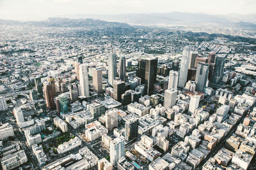
POLYGON ((49 109, 54 109, 54 90, 52 89, 52 84, 49 81, 44 82, 44 97, 46 107, 49 109))

